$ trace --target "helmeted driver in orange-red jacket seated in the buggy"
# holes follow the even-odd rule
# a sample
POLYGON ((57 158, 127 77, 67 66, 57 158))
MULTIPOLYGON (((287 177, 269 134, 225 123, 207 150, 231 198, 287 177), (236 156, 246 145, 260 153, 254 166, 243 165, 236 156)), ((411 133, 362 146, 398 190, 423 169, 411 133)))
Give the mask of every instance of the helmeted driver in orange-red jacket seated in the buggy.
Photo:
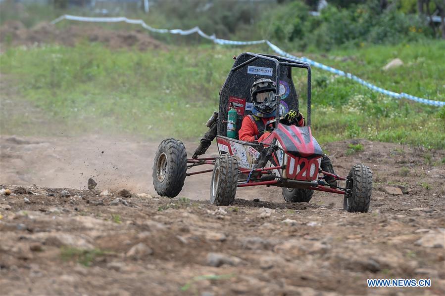
MULTIPOLYGON (((266 78, 260 78, 253 82, 250 88, 250 97, 253 102, 252 114, 243 119, 239 131, 239 139, 246 142, 261 142, 270 134, 266 123, 275 119, 277 99, 275 92, 277 86, 266 78)), ((284 116, 284 124, 294 124, 303 127, 305 124, 303 115, 298 110, 291 110, 284 116)))

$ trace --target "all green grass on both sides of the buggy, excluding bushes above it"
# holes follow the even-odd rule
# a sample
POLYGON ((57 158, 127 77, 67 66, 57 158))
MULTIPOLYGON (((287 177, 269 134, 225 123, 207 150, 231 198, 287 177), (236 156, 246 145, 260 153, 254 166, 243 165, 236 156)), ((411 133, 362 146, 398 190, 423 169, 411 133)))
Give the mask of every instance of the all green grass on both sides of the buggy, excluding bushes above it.
MULTIPOLYGON (((390 90, 441 99, 444 44, 378 45, 310 57, 390 90), (339 56, 352 60, 338 61, 339 56), (381 70, 395 56, 405 65, 381 70)), ((247 50, 270 52, 266 46, 212 44, 140 52, 85 42, 76 47, 9 48, 1 54, 0 65, 21 96, 69 126, 71 134, 119 132, 187 139, 205 132, 204 123, 218 109, 231 57, 247 50)), ((293 73, 304 111, 305 77, 293 73)), ((312 130, 320 143, 366 138, 445 148, 445 108, 383 96, 319 69, 313 69, 312 77, 312 130)), ((20 125, 19 118, 9 122, 2 116, 3 130, 20 130, 20 125)))

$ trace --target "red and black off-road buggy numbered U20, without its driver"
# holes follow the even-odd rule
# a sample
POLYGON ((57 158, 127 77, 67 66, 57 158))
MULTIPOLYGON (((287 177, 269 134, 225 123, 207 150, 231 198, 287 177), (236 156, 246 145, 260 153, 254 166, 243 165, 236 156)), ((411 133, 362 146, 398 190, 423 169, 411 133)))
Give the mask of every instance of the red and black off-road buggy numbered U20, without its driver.
MULTIPOLYGON (((174 138, 163 140, 153 164, 153 184, 161 196, 173 198, 184 185, 186 176, 213 171, 210 183, 210 203, 228 206, 235 200, 237 187, 282 187, 287 202, 309 202, 314 190, 344 195, 344 209, 366 212, 371 199, 372 172, 369 167, 355 165, 347 177, 334 170, 321 169, 322 150, 312 136, 311 123, 311 68, 297 60, 268 54, 245 52, 235 58, 235 63, 221 88, 219 112, 207 122, 209 130, 200 140, 192 158, 187 158, 184 144, 174 138), (306 125, 284 125, 280 117, 291 109, 298 110, 297 92, 292 80, 292 69, 307 70, 306 125), (236 110, 236 131, 242 119, 251 114, 250 86, 259 78, 276 82, 276 119, 271 121, 270 135, 261 143, 245 142, 228 137, 228 113, 236 110), (203 155, 216 137, 219 157, 203 155), (211 165, 213 169, 191 172, 189 169, 211 165), (325 181, 334 177, 336 185, 325 181), (346 181, 341 185, 341 181, 346 181), (334 188, 332 188, 334 187, 334 188)), ((332 168, 332 166, 331 166, 332 168)), ((331 182, 332 183, 332 182, 331 182)))

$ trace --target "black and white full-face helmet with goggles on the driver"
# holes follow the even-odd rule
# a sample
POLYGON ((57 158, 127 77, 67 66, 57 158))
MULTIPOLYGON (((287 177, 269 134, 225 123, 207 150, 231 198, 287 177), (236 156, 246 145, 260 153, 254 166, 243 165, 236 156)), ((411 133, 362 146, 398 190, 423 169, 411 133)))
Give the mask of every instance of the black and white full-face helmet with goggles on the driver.
POLYGON ((250 88, 250 97, 257 112, 262 113, 264 116, 274 115, 272 113, 277 108, 275 99, 276 91, 277 86, 272 80, 266 78, 255 80, 250 88))

